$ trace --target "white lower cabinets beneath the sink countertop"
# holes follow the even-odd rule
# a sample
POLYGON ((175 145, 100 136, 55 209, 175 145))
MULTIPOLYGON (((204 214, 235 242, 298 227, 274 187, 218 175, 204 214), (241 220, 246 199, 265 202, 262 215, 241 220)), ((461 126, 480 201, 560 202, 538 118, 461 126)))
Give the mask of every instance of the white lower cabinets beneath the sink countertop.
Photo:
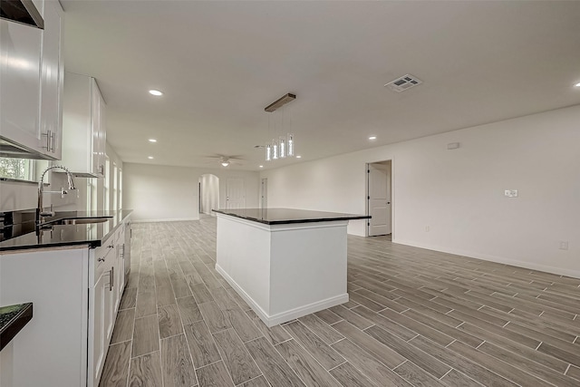
MULTIPOLYGON (((123 292, 121 225, 102 247, 0 255, 0 305, 32 302, 14 338, 13 384, 98 387, 123 292), (34 372, 31 372, 34 370, 34 372)), ((4 367, 4 368, 3 368, 4 367)))

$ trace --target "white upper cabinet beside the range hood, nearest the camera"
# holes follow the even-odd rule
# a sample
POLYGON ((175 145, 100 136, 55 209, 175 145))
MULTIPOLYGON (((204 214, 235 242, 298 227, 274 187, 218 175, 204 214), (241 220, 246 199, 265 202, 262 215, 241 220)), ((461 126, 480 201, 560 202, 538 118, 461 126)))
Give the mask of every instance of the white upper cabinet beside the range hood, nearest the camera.
POLYGON ((0 20, 0 155, 60 160, 63 9, 53 0, 34 5, 43 30, 0 20))

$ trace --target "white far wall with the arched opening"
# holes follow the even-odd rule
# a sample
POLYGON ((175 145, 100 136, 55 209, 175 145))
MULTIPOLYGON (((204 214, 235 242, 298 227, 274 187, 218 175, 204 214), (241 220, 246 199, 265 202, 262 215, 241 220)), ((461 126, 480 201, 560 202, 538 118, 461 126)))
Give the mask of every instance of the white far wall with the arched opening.
POLYGON ((206 173, 220 181, 219 208, 226 207, 226 182, 233 177, 244 179, 246 207, 257 208, 257 172, 135 163, 123 166, 123 208, 133 209, 134 221, 198 219, 198 181, 206 173))

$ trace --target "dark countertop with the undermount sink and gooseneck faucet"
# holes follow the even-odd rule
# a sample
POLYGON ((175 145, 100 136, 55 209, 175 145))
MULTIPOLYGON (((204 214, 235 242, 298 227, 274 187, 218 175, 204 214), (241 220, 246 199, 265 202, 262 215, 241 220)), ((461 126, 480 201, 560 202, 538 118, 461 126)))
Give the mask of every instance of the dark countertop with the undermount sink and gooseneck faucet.
MULTIPOLYGON (((34 210, 32 210, 34 211, 34 210)), ((121 211, 60 211, 52 218, 45 218, 46 227, 33 227, 0 242, 0 252, 27 248, 68 247, 88 245, 90 248, 102 246, 102 242, 111 235, 123 220, 131 215, 132 210, 121 211), (111 217, 103 223, 78 225, 50 225, 51 221, 67 218, 103 218, 111 217), (48 224, 46 224, 48 222, 48 224)), ((10 231, 4 228, 5 233, 10 231)))

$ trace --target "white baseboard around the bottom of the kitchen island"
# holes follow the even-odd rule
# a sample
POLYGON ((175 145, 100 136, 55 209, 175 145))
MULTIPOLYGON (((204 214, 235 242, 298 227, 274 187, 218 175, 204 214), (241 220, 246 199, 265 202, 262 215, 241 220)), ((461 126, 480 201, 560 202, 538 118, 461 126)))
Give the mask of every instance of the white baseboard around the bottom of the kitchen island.
POLYGON ((237 285, 237 282, 234 281, 234 279, 231 276, 227 275, 227 273, 224 271, 224 269, 221 268, 221 266, 217 264, 216 271, 218 271, 218 273, 221 276, 223 276, 224 279, 226 279, 227 283, 236 290, 237 294, 240 295, 244 299, 244 301, 246 301, 247 304, 252 307, 252 310, 256 312, 256 314, 260 317, 260 319, 264 322, 264 324, 266 324, 268 328, 277 324, 286 323, 288 321, 294 320, 295 318, 302 317, 306 314, 312 314, 314 312, 319 312, 332 306, 347 303, 349 300, 348 293, 345 293, 343 295, 336 295, 331 298, 326 298, 313 304, 300 306, 295 309, 290 309, 282 313, 269 315, 266 313, 266 311, 264 311, 264 309, 262 309, 259 305, 257 305, 256 301, 254 301, 254 299, 250 297, 250 295, 248 295, 244 291, 244 289, 242 289, 239 285, 237 285))

